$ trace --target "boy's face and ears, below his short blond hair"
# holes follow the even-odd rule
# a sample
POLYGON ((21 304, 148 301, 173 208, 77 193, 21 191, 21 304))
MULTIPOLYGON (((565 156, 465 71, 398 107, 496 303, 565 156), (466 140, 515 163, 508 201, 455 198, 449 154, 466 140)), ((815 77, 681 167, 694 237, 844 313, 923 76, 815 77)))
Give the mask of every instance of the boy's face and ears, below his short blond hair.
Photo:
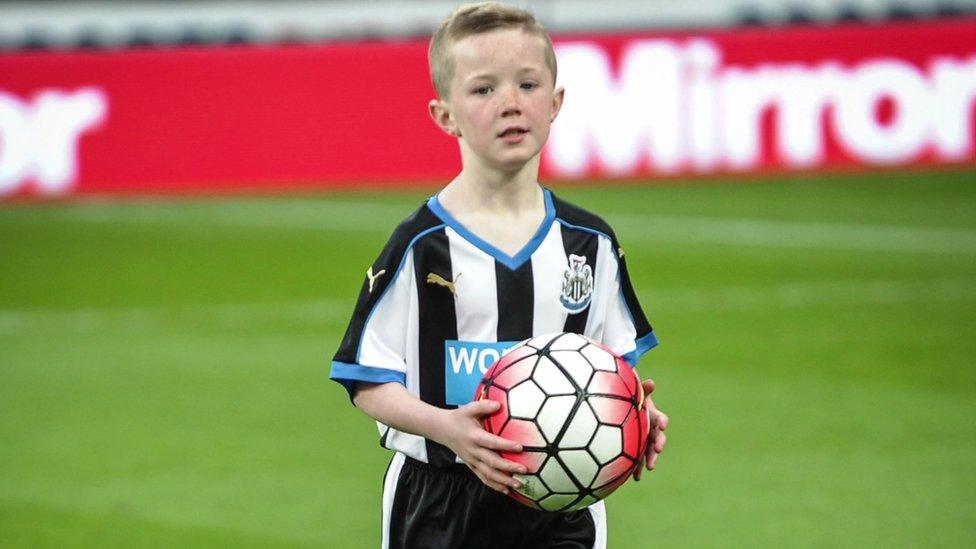
POLYGON ((521 29, 477 34, 452 46, 450 95, 432 101, 431 114, 460 137, 466 163, 519 169, 542 150, 563 96, 555 90, 545 47, 542 38, 521 29))

